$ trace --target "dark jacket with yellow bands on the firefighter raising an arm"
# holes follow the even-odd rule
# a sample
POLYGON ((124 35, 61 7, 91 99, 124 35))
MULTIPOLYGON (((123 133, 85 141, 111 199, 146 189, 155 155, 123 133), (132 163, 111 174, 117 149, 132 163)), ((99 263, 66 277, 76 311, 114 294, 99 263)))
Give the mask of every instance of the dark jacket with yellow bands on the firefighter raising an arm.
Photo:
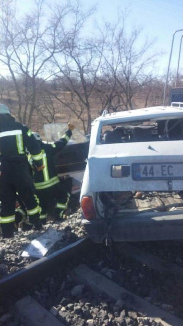
POLYGON ((45 168, 38 172, 33 167, 34 185, 37 190, 46 189, 60 182, 55 171, 53 156, 65 147, 71 136, 72 131, 67 130, 65 135, 53 144, 45 144, 44 142, 41 142, 41 153, 43 155, 43 164, 45 168))

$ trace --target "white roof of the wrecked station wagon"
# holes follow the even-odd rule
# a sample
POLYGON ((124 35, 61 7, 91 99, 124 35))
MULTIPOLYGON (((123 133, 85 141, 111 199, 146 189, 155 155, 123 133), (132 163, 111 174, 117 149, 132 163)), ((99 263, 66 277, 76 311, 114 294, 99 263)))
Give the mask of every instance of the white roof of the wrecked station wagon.
POLYGON ((108 122, 109 120, 115 120, 115 119, 121 119, 129 118, 129 120, 134 120, 138 117, 138 120, 140 117, 143 119, 148 118, 161 118, 163 116, 180 116, 183 115, 183 108, 180 107, 173 107, 173 106, 155 106, 150 108, 143 108, 143 109, 137 109, 137 110, 130 110, 130 111, 120 111, 120 112, 113 112, 108 113, 106 115, 100 116, 95 119, 96 121, 101 122, 108 122))

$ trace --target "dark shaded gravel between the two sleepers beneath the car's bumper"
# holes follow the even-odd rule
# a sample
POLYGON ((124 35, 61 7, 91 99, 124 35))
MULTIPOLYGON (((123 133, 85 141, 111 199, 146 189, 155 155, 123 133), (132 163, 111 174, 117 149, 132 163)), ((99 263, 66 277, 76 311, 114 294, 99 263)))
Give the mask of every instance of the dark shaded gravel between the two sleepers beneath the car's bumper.
POLYGON ((183 318, 182 279, 169 273, 154 271, 130 257, 113 252, 105 255, 101 249, 98 260, 86 260, 91 269, 105 275, 123 288, 156 306, 183 318))

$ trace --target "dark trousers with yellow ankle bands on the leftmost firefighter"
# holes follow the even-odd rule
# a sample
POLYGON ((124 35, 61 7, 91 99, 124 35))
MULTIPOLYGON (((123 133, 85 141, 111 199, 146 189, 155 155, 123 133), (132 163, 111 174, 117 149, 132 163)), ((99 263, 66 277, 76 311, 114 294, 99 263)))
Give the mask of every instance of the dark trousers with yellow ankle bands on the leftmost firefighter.
POLYGON ((41 208, 35 195, 35 187, 26 158, 2 159, 0 176, 0 223, 4 238, 13 236, 16 193, 25 204, 29 222, 39 228, 41 208))

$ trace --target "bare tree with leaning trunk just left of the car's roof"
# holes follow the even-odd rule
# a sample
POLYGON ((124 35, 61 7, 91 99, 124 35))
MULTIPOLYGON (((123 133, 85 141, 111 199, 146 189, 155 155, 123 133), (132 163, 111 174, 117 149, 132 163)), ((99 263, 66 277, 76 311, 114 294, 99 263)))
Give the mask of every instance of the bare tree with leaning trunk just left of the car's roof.
MULTIPOLYGON (((85 22, 92 16, 95 8, 83 12, 78 3, 73 10, 73 35, 67 40, 64 49, 63 58, 60 60, 58 55, 54 55, 54 64, 60 69, 62 89, 72 93, 72 102, 68 102, 63 97, 58 97, 52 92, 52 95, 60 101, 65 108, 73 112, 82 122, 84 133, 91 131, 92 107, 90 99, 99 73, 104 42, 97 37, 83 39, 80 32, 85 26, 85 22)), ((64 26, 62 26, 62 31, 64 26)))

